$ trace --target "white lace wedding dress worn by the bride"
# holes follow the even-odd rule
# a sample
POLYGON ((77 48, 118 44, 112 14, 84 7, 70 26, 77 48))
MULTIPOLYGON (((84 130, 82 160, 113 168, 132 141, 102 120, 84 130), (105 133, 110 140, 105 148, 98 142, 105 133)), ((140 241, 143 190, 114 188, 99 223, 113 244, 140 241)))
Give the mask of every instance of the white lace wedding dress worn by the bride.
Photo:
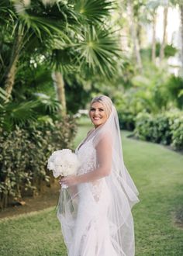
MULTIPOLYGON (((95 134, 75 150, 81 162, 78 175, 98 167, 94 140, 95 134)), ((57 213, 68 256, 134 255, 133 217, 128 196, 121 185, 116 183, 112 187, 110 176, 68 188, 71 199, 64 202, 65 212, 57 213)))

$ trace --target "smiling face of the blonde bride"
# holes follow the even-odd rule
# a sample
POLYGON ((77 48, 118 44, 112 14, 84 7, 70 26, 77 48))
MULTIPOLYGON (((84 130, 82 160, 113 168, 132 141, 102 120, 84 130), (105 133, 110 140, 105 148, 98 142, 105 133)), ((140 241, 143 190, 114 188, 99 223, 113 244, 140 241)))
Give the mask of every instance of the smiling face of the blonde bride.
POLYGON ((91 105, 89 116, 95 128, 97 128, 98 126, 101 126, 108 119, 106 110, 103 104, 100 102, 94 102, 91 105))

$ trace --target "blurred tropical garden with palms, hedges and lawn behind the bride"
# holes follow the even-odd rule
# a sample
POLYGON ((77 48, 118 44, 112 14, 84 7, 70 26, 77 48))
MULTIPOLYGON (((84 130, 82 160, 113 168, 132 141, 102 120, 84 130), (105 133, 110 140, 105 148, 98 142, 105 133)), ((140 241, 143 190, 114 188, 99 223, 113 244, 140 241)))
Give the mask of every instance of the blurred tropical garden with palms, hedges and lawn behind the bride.
POLYGON ((66 255, 47 159, 104 94, 140 191, 136 255, 181 256, 182 0, 2 0, 0 24, 0 254, 66 255))

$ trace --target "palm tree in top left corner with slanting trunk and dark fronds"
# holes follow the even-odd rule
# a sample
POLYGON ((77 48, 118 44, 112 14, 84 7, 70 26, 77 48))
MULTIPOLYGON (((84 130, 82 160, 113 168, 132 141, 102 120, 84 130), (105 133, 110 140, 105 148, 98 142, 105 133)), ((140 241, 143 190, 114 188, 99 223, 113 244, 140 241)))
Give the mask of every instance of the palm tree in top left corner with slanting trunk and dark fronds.
MULTIPOLYGON (((9 32, 12 30, 10 60, 2 75, 2 77, 5 77, 4 86, 9 98, 15 82, 18 61, 24 54, 27 44, 32 43, 35 39, 39 40, 39 43, 43 43, 45 36, 49 38, 53 36, 51 33, 60 32, 61 34, 61 29, 67 25, 67 22, 63 17, 61 22, 57 21, 56 18, 61 18, 63 14, 57 12, 56 16, 55 9, 50 11, 40 1, 32 0, 31 5, 30 1, 26 0, 2 1, 0 8, 1 18, 5 21, 4 27, 8 28, 9 32), (49 19, 47 19, 48 13, 49 19)), ((65 8, 64 11, 66 15, 69 13, 71 16, 69 9, 65 8)), ((63 36, 67 38, 66 35, 63 36)))

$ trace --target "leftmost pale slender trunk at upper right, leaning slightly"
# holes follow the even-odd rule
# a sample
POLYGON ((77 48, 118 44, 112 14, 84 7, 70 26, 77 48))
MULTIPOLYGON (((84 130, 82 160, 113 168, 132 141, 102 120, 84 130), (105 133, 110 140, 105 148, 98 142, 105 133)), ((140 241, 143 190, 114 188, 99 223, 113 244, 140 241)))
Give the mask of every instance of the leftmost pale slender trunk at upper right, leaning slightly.
POLYGON ((134 21, 133 2, 132 0, 130 0, 128 3, 129 3, 129 28, 130 28, 130 33, 133 40, 133 54, 136 59, 137 67, 140 73, 142 73, 143 65, 142 65, 141 56, 140 56, 139 40, 136 33, 136 23, 134 21))

